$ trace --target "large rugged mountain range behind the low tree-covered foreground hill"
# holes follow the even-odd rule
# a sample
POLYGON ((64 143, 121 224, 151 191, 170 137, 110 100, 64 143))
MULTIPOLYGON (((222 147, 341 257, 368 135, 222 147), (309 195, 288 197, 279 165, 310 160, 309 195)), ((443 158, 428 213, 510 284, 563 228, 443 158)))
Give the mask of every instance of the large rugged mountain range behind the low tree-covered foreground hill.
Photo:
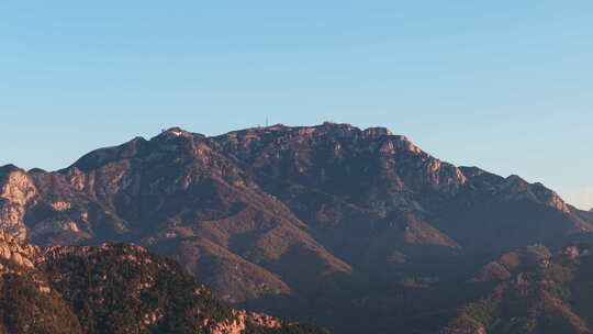
POLYGON ((591 212, 383 127, 174 127, 58 171, 0 167, 0 227, 38 245, 134 243, 235 307, 334 333, 590 333, 593 320, 579 296, 591 212))

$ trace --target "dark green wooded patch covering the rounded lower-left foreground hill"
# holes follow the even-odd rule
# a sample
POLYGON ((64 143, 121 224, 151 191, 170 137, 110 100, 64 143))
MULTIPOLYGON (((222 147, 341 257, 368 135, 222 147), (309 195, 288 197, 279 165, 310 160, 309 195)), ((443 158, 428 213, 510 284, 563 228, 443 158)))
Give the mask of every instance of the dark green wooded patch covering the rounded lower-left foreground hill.
POLYGON ((181 266, 142 248, 70 253, 49 261, 47 271, 65 277, 53 288, 64 291, 89 333, 198 333, 203 319, 231 318, 181 266))

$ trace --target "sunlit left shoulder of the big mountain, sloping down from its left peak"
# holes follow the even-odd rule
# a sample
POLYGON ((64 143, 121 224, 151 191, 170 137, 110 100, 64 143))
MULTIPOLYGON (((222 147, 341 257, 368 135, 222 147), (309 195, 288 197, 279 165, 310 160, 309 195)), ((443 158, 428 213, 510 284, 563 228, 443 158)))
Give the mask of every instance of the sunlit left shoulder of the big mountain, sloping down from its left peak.
POLYGON ((265 268, 288 250, 315 264, 312 280, 351 270, 200 135, 171 130, 99 149, 57 172, 9 166, 4 174, 3 225, 21 240, 133 241, 199 270, 228 301, 289 293, 265 268))

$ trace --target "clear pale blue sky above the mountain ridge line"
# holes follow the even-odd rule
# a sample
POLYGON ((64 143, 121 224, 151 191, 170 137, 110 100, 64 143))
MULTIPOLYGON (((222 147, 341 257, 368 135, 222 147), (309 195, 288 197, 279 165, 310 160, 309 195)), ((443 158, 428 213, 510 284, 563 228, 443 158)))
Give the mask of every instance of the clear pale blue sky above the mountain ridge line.
POLYGON ((593 207, 593 1, 2 1, 0 165, 179 125, 382 125, 593 207))

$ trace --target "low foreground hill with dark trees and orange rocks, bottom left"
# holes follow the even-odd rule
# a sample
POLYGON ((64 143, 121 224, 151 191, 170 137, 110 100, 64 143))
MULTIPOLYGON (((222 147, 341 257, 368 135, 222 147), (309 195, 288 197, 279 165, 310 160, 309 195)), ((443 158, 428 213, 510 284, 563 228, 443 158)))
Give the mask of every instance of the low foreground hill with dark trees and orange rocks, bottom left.
POLYGON ((133 245, 38 247, 0 232, 0 333, 325 333, 231 309, 133 245))

